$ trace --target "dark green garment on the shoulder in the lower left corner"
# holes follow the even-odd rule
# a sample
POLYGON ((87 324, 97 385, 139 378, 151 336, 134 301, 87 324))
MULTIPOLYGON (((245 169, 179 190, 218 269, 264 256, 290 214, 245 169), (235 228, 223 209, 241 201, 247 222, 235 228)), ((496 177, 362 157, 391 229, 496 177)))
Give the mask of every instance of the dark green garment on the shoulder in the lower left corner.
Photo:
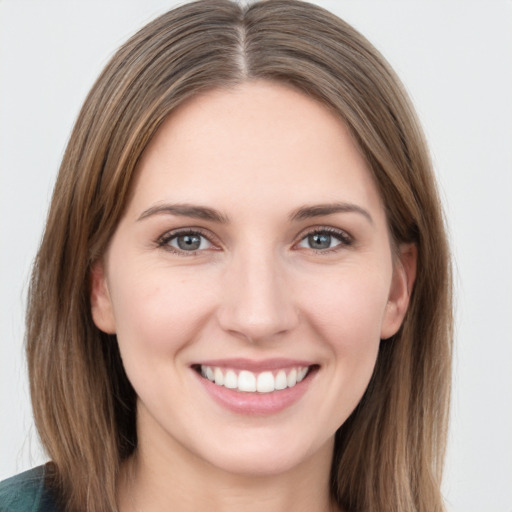
POLYGON ((0 512, 58 512, 44 479, 39 466, 0 482, 0 512))

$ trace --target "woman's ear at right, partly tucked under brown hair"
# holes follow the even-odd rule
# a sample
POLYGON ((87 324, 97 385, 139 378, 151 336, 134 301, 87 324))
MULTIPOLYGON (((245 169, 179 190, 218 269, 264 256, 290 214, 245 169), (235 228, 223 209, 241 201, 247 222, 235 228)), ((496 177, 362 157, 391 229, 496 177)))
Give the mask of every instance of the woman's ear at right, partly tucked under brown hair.
POLYGON ((414 280, 418 250, 414 244, 402 244, 395 257, 393 277, 388 303, 381 326, 381 339, 387 339, 398 332, 409 306, 414 280))

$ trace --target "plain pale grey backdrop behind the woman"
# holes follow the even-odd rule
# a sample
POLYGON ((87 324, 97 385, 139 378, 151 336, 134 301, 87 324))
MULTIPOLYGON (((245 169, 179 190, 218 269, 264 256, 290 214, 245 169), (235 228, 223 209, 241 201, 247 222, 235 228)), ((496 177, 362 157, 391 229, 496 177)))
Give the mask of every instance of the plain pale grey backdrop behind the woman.
MULTIPOLYGON (((317 1, 396 69, 430 143, 456 279, 444 494, 512 512, 512 2, 317 1)), ((74 119, 114 50, 171 0, 0 0, 0 479, 45 460, 23 358, 30 265, 74 119)))

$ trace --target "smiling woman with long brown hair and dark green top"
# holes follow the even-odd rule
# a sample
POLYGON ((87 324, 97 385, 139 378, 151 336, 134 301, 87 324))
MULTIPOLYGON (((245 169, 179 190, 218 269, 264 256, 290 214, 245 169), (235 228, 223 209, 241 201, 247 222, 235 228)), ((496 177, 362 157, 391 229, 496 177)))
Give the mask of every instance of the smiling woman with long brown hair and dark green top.
POLYGON ((450 311, 428 153, 376 50, 294 0, 173 10, 64 155, 27 313, 52 462, 3 503, 443 510, 450 311))

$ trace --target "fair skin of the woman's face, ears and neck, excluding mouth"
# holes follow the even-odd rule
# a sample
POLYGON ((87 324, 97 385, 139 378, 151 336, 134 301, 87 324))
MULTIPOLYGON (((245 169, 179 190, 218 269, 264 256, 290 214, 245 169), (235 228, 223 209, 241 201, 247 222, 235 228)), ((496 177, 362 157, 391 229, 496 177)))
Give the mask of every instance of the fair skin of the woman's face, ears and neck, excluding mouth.
POLYGON ((321 104, 256 81, 174 112, 92 273, 94 321, 117 334, 138 396, 120 509, 331 510, 334 434, 407 309, 415 251, 394 253, 367 164, 321 104), (290 219, 332 203, 350 208, 290 219), (156 211, 165 204, 206 206, 227 221, 156 211), (204 236, 199 250, 162 245, 187 228, 204 236), (329 248, 311 248, 319 230, 329 248), (291 407, 250 416, 215 403, 191 369, 232 357, 319 369, 291 407))

